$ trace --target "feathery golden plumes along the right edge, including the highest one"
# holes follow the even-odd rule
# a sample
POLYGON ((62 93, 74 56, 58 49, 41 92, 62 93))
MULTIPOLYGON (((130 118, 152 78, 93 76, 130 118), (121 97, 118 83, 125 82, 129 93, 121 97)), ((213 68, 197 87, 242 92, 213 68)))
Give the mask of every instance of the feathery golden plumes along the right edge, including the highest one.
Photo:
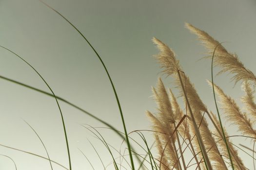
MULTIPOLYGON (((227 96, 223 90, 214 85, 217 94, 220 99, 220 104, 224 111, 225 117, 233 124, 236 124, 239 131, 244 135, 256 137, 256 132, 253 128, 253 123, 249 117, 256 118, 256 104, 254 102, 254 90, 251 88, 252 82, 256 84, 256 76, 254 73, 245 68, 243 63, 238 59, 236 54, 228 52, 218 41, 212 38, 206 32, 197 29, 191 24, 185 24, 185 26, 194 34, 197 34, 200 42, 208 49, 208 54, 214 55, 214 65, 221 68, 218 73, 229 72, 233 74, 232 80, 235 84, 238 81, 242 81, 242 88, 246 95, 241 98, 241 101, 245 104, 248 113, 242 113, 236 102, 229 96, 227 96), (248 117, 249 116, 249 117, 248 117)), ((212 56, 210 56, 212 57, 212 56)), ((212 85, 212 83, 209 83, 212 85)))

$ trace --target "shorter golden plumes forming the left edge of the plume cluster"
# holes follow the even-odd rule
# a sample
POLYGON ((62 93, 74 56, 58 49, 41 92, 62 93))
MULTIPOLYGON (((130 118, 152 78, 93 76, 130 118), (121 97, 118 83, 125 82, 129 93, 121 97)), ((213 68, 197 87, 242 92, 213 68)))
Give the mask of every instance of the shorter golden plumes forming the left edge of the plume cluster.
POLYGON ((174 167, 179 170, 180 167, 175 145, 177 138, 174 135, 176 115, 172 110, 171 102, 161 79, 158 79, 157 89, 153 87, 152 91, 158 104, 158 114, 154 116, 147 111, 147 116, 152 121, 153 129, 156 132, 155 136, 159 153, 158 159, 163 160, 161 163, 164 169, 172 169, 174 167))

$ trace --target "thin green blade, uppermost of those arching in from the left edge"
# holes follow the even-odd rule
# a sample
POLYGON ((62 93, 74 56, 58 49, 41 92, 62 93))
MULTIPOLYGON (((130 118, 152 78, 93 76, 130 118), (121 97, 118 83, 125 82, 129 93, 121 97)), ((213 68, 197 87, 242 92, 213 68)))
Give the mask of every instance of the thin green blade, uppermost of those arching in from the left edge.
POLYGON ((66 140, 66 146, 67 146, 67 152, 68 152, 68 160, 69 160, 69 169, 72 170, 71 168, 71 159, 70 159, 70 152, 69 152, 69 146, 68 146, 68 138, 67 138, 67 133, 66 133, 66 127, 65 127, 65 122, 64 122, 64 118, 63 118, 63 115, 62 115, 62 112, 61 112, 61 109, 60 109, 60 106, 59 106, 59 102, 52 90, 52 88, 48 85, 48 83, 44 80, 44 78, 41 76, 41 74, 39 74, 39 72, 33 67, 31 66, 26 60, 24 60, 20 55, 18 55, 17 53, 3 47, 0 45, 1 48, 13 53, 14 55, 16 55, 18 58, 20 58, 23 62, 25 62, 30 68, 32 68, 38 75, 39 77, 42 79, 42 81, 45 83, 45 85, 47 85, 47 87, 49 88, 49 90, 52 92, 54 98, 55 98, 55 101, 57 102, 57 105, 58 105, 58 108, 59 108, 59 112, 60 112, 60 116, 61 116, 61 120, 62 120, 62 125, 63 125, 63 130, 64 130, 64 134, 65 134, 65 140, 66 140))

